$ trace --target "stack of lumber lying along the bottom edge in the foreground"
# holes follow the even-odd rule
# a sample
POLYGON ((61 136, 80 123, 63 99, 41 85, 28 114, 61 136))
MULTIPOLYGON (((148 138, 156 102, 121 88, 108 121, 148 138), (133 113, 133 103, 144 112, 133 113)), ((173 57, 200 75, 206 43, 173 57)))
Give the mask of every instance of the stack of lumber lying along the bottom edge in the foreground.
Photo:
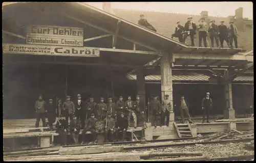
POLYGON ((158 160, 159 157, 165 157, 165 160, 196 160, 206 158, 202 152, 152 153, 147 151, 142 153, 124 153, 122 146, 111 145, 68 148, 53 147, 30 151, 4 152, 4 160, 6 161, 154 161, 158 160))

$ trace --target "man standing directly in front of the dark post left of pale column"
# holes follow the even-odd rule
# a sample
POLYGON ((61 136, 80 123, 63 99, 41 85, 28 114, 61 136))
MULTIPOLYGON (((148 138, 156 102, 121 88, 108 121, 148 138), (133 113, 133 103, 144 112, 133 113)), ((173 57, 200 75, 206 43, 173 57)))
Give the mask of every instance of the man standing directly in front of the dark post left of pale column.
MULTIPOLYGON (((136 100, 134 101, 134 107, 135 107, 135 113, 139 119, 139 122, 142 122, 144 127, 146 127, 146 122, 145 122, 145 106, 143 105, 143 102, 140 100, 140 96, 136 96, 136 100)), ((138 125, 138 121, 137 121, 138 125)))

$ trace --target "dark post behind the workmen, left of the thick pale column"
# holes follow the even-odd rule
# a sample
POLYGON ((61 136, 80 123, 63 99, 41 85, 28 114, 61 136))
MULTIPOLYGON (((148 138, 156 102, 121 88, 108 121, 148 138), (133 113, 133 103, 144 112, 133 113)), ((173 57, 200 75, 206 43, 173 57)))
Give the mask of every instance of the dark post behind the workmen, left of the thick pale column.
MULTIPOLYGON (((142 102, 142 108, 140 110, 144 111, 145 115, 145 75, 144 75, 144 67, 140 66, 137 69, 137 80, 136 80, 136 85, 137 85, 137 94, 140 96, 140 102, 142 102)), ((144 116, 146 117, 146 116, 144 116)), ((145 119, 146 120, 146 119, 145 119)), ((145 122, 145 120, 143 120, 145 122)))

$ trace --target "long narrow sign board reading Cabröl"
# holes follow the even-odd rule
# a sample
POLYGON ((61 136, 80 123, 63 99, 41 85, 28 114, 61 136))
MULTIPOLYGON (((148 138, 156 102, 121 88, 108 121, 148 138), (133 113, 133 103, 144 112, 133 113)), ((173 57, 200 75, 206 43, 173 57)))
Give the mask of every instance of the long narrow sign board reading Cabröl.
POLYGON ((21 54, 70 57, 99 57, 99 48, 52 45, 3 44, 3 53, 17 55, 21 54))

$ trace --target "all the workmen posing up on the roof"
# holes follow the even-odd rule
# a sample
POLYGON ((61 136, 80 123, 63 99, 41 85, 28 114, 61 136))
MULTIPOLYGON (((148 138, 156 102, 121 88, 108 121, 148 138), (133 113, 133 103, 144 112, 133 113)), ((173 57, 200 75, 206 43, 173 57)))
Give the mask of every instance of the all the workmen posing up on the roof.
MULTIPOLYGON (((227 42, 229 48, 233 48, 234 46, 238 48, 238 29, 236 25, 234 25, 233 21, 229 22, 229 26, 224 25, 224 21, 221 21, 220 25, 215 24, 215 20, 211 20, 209 23, 209 28, 207 27, 207 23, 205 22, 205 18, 200 18, 199 24, 197 25, 192 21, 192 17, 187 18, 187 22, 184 26, 181 25, 180 21, 177 21, 177 26, 175 28, 175 33, 172 35, 172 38, 177 37, 180 42, 185 43, 186 38, 189 36, 191 40, 191 46, 195 46, 194 38, 198 31, 199 36, 199 47, 202 47, 202 40, 204 43, 204 47, 207 47, 207 35, 209 34, 211 47, 214 46, 214 40, 216 41, 217 47, 223 48, 224 40, 227 42), (220 46, 219 46, 220 39, 220 46)), ((154 26, 150 24, 145 18, 144 15, 140 15, 140 19, 138 24, 144 26, 147 29, 152 31, 156 31, 154 26)), ((208 45, 209 46, 209 45, 208 45)))

